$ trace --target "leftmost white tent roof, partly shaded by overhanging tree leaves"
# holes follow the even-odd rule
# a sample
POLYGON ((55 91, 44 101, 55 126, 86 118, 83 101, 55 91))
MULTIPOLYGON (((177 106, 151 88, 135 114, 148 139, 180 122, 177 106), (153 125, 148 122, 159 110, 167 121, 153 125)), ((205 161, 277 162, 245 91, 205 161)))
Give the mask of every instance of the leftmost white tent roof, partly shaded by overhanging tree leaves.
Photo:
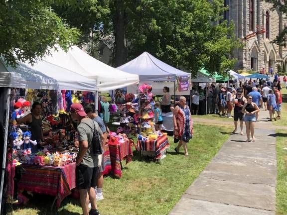
POLYGON ((16 69, 4 66, 0 58, 0 87, 95 91, 96 81, 75 72, 39 61, 31 66, 19 63, 16 69))

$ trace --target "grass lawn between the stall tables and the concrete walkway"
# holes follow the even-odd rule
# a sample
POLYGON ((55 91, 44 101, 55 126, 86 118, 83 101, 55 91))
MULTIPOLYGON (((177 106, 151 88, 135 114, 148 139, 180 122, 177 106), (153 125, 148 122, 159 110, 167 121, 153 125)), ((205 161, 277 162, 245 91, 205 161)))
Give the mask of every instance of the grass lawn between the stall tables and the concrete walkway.
MULTIPOLYGON (((188 144, 189 156, 175 154, 175 144, 169 137, 170 149, 162 164, 135 161, 123 170, 121 179, 105 178, 104 197, 98 208, 103 215, 166 215, 184 191, 198 177, 228 139, 226 126, 195 124, 194 138, 188 144), (203 138, 204 137, 204 138, 203 138)), ((183 149, 181 149, 182 151, 183 149)), ((78 215, 81 208, 77 200, 70 198, 62 207, 50 212, 52 198, 35 195, 26 207, 15 209, 14 215, 78 215)))

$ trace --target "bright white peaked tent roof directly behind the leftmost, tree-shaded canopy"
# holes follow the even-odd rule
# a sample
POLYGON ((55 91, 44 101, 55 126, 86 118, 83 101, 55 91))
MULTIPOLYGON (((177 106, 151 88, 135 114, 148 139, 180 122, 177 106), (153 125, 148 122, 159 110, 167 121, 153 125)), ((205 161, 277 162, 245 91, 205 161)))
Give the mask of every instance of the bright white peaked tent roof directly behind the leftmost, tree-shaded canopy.
POLYGON ((51 55, 45 57, 44 61, 97 80, 99 91, 122 88, 139 82, 138 75, 125 73, 110 67, 91 57, 77 46, 72 46, 68 52, 64 52, 60 48, 58 51, 51 50, 51 55))

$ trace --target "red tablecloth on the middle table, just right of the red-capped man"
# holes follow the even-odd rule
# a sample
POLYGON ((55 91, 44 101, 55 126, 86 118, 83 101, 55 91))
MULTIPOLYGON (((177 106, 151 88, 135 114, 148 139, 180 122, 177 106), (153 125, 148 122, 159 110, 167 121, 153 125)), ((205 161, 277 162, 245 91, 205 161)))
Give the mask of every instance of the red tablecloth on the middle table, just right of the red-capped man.
POLYGON ((122 165, 121 162, 126 159, 126 165, 132 161, 133 150, 130 140, 125 142, 112 142, 109 141, 109 150, 111 156, 112 172, 115 177, 122 177, 122 165))

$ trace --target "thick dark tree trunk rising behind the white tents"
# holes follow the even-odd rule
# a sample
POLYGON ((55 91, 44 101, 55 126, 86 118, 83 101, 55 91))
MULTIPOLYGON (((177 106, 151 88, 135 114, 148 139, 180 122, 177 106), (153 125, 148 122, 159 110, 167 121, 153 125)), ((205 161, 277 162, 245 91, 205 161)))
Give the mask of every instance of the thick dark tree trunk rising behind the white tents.
POLYGON ((114 36, 115 52, 114 66, 118 67, 125 64, 128 60, 127 40, 126 40, 126 11, 124 8, 125 0, 115 0, 115 17, 114 17, 114 36))

